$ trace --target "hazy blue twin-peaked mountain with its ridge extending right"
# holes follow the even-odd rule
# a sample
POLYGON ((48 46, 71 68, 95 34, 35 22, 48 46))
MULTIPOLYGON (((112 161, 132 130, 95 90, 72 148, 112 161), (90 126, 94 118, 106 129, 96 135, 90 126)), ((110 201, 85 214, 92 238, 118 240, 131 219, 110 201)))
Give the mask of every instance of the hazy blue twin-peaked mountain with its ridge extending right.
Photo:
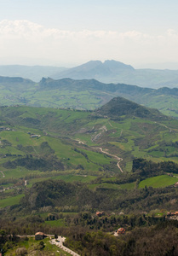
POLYGON ((135 84, 149 88, 178 86, 178 70, 135 69, 119 61, 89 61, 51 77, 53 79, 97 79, 102 83, 135 84))

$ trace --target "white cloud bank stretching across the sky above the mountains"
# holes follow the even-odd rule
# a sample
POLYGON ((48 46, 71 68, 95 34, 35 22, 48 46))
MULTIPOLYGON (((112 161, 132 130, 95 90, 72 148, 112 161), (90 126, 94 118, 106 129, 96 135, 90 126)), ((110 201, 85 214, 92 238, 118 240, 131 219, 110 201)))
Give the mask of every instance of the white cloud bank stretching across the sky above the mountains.
POLYGON ((178 33, 172 29, 152 35, 135 30, 122 32, 121 29, 65 31, 47 28, 29 20, 0 22, 1 64, 10 58, 16 63, 22 58, 46 59, 49 64, 67 61, 82 63, 96 59, 174 61, 178 58, 177 48, 178 33))

